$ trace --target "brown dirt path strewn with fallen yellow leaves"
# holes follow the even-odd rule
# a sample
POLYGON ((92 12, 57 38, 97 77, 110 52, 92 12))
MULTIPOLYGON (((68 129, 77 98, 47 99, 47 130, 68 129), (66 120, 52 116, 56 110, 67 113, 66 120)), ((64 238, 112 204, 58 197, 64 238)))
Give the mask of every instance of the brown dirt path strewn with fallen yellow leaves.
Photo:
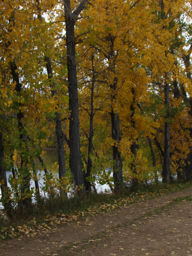
POLYGON ((0 255, 192 255, 192 188, 93 215, 1 241, 0 255))

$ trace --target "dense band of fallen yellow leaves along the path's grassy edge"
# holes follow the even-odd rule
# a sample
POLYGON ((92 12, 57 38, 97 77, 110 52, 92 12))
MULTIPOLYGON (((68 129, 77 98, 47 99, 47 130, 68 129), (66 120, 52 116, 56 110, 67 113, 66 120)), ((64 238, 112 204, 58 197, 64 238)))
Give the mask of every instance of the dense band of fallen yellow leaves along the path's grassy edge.
MULTIPOLYGON (((179 189, 182 189, 182 186, 179 187, 179 189)), ((117 208, 125 208, 129 207, 129 205, 134 204, 134 202, 142 202, 144 200, 147 200, 148 198, 153 198, 154 196, 161 196, 166 195, 169 191, 177 191, 178 186, 167 186, 165 188, 161 188, 159 190, 159 193, 156 193, 156 191, 150 192, 141 192, 138 191, 138 193, 132 193, 131 195, 127 196, 126 198, 119 198, 118 200, 113 200, 112 203, 97 203, 93 206, 88 207, 88 209, 84 209, 84 211, 74 212, 74 214, 55 214, 54 216, 45 216, 44 220, 38 220, 35 219, 28 222, 28 224, 15 224, 12 223, 12 225, 8 227, 1 228, 0 232, 0 241, 7 239, 8 237, 34 237, 38 234, 42 234, 42 232, 46 232, 51 230, 56 225, 61 224, 68 224, 71 223, 74 220, 78 220, 79 218, 84 218, 86 216, 95 216, 97 214, 100 214, 102 212, 111 212, 117 208)), ((168 202, 164 203, 168 204, 168 202)), ((145 212, 143 212, 145 214, 145 212)), ((3 211, 0 211, 0 215, 4 218, 4 220, 7 221, 6 215, 3 211)), ((89 223, 88 225, 92 225, 89 223)))

